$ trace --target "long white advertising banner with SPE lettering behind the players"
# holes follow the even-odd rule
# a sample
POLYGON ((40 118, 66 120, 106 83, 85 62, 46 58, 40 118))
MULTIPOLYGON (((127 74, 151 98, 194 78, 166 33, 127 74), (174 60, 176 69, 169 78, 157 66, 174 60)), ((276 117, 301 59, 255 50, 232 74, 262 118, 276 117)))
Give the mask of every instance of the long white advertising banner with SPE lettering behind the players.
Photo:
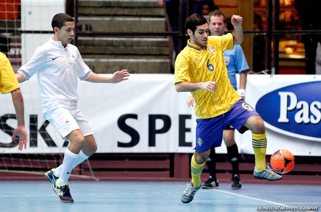
MULTIPOLYGON (((187 107, 189 93, 176 92, 172 74, 129 78, 118 84, 78 83, 78 107, 91 125, 97 153, 194 152, 196 117, 187 107)), ((318 75, 248 75, 246 102, 265 120, 267 154, 288 149, 321 156, 320 85, 318 75)), ((30 140, 22 151, 11 141, 15 111, 11 95, 0 95, 0 152, 64 152, 67 143, 43 119, 37 77, 20 86, 30 140)), ((251 132, 236 132, 235 139, 240 152, 253 154, 251 132)), ((226 153, 224 142, 216 152, 226 153)))

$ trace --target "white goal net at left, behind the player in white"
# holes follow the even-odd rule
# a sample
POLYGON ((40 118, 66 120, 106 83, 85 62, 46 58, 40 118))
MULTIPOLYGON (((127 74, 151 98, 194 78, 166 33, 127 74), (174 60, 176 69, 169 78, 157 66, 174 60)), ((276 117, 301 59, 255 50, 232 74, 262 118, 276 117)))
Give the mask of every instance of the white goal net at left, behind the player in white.
MULTIPOLYGON (((65 12, 65 1, 0 0, 0 47, 16 72, 29 61, 34 50, 52 35, 51 19, 65 12)), ((0 95, 0 179, 45 179, 45 172, 58 167, 68 142, 43 119, 37 77, 20 84, 25 107, 27 149, 18 150, 19 139, 11 141, 17 126, 10 94, 0 95), (42 175, 42 176, 40 176, 42 175)), ((94 179, 89 160, 73 169, 71 178, 94 179)))

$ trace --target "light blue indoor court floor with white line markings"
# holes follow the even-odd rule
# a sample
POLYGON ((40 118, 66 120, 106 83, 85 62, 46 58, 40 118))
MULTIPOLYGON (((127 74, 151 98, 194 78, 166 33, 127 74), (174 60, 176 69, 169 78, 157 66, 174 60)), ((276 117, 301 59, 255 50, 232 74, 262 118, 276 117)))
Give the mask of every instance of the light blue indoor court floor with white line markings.
POLYGON ((183 182, 70 181, 74 203, 62 203, 48 181, 0 181, 0 211, 257 212, 289 206, 300 210, 282 211, 321 211, 321 185, 243 184, 239 190, 230 186, 220 183, 219 189, 200 189, 192 202, 184 204, 183 182))

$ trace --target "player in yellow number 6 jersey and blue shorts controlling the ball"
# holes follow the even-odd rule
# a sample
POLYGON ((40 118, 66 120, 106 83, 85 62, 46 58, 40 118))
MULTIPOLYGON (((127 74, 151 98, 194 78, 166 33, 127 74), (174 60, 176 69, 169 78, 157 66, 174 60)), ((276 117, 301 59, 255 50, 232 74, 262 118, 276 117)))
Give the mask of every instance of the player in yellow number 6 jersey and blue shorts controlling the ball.
POLYGON ((208 36, 207 20, 199 14, 189 16, 185 23, 190 39, 175 61, 175 88, 177 92, 191 92, 195 99, 196 148, 191 160, 192 181, 181 201, 193 200, 201 188, 201 173, 211 149, 221 146, 227 124, 240 133, 252 131, 255 154, 254 177, 269 181, 281 180, 265 163, 266 135, 261 116, 244 102, 231 86, 223 52, 243 42, 242 17, 233 15, 232 33, 208 36))

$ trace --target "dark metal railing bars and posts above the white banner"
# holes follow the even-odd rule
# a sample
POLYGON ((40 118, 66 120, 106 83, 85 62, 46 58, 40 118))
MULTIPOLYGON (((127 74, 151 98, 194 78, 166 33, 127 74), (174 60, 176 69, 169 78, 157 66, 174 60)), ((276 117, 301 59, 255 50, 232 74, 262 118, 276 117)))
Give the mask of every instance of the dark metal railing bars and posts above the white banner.
MULTIPOLYGON (((180 4, 182 0, 180 0, 180 4)), ((278 30, 276 26, 279 24, 279 0, 266 0, 266 30, 244 30, 245 35, 264 35, 265 40, 265 69, 275 70, 275 74, 279 70, 279 38, 284 35, 313 35, 321 34, 321 29, 319 30, 278 30), (273 44, 273 45, 272 45, 273 44)), ((182 6, 182 5, 181 5, 182 6)), ((73 9, 74 9, 74 19, 77 26, 78 23, 78 0, 73 0, 73 9)), ((188 7, 187 7, 188 8, 188 7)), ((180 9, 181 10, 181 9, 180 9)), ((180 13, 181 14, 181 13, 180 13)), ((182 17, 180 17, 182 20, 182 17)), ((181 26, 181 25, 179 25, 181 26)), ((181 27, 180 27, 181 28, 181 27)), ((95 36, 134 36, 134 37, 143 37, 143 36, 171 36, 179 37, 180 39, 180 49, 183 49, 185 46, 182 46, 184 43, 183 40, 186 39, 185 32, 182 29, 176 32, 117 32, 117 31, 85 31, 75 29, 75 40, 74 44, 77 45, 78 37, 95 37, 95 36)), ((0 29, 0 33, 41 33, 41 34, 51 34, 52 31, 46 30, 21 30, 21 29, 0 29)))

